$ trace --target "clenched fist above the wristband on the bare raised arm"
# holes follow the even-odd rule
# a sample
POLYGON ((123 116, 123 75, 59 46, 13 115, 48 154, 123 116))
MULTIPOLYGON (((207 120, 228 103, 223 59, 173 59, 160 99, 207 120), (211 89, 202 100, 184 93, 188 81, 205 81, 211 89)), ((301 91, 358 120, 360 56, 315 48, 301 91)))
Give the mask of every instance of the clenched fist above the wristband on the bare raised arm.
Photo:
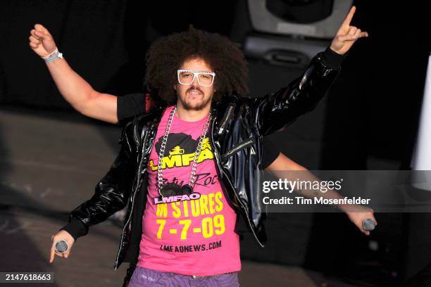
POLYGON ((35 25, 35 29, 30 31, 30 48, 40 57, 48 56, 56 51, 56 42, 46 28, 40 24, 35 25))

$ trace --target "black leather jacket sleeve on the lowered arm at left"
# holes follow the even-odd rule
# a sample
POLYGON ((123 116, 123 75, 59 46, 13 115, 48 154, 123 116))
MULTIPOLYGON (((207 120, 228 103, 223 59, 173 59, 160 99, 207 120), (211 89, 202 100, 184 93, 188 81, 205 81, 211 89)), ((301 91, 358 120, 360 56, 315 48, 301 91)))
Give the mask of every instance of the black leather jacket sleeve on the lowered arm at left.
POLYGON ((103 222, 127 205, 137 162, 133 130, 132 122, 123 128, 120 152, 110 170, 96 185, 92 198, 70 212, 69 223, 61 229, 68 231, 75 241, 86 235, 91 225, 103 222))

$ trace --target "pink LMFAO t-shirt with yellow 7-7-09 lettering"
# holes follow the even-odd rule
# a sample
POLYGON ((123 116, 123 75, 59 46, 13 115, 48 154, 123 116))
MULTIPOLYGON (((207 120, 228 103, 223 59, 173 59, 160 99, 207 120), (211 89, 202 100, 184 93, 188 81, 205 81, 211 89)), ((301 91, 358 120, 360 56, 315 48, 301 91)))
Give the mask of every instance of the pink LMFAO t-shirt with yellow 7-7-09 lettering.
MULTIPOLYGON (((218 181, 208 136, 197 160, 194 193, 165 197, 165 202, 158 199, 158 152, 172 109, 168 107, 161 118, 149 158, 148 195, 137 265, 201 276, 239 271, 239 236, 234 231, 237 215, 227 203, 218 181)), ((189 183, 194 152, 205 122, 206 117, 186 122, 175 113, 163 157, 165 182, 189 183)))

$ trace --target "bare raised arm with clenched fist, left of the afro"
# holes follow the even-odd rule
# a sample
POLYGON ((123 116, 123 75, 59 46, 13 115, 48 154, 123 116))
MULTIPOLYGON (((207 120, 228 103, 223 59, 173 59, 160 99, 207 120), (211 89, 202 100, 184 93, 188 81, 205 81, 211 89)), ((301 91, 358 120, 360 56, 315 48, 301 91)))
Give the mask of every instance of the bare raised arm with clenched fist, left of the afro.
MULTIPOLYGON (((30 47, 40 57, 49 56, 56 50, 52 35, 40 24, 30 31, 30 47)), ((46 62, 58 91, 70 105, 87 117, 104 122, 117 123, 117 97, 95 91, 77 74, 64 58, 46 62)))

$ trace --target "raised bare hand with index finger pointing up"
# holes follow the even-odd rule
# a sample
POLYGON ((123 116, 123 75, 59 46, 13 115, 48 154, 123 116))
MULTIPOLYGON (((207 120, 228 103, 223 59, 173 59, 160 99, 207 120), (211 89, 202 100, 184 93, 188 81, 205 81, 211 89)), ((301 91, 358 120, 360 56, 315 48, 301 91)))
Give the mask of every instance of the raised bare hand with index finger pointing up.
POLYGON ((339 27, 337 34, 335 34, 334 39, 332 39, 330 48, 332 51, 335 51, 335 53, 344 55, 349 51, 357 39, 368 37, 367 32, 362 32, 361 29, 350 26, 351 18, 353 18, 355 11, 356 7, 352 6, 346 19, 344 19, 341 27, 339 27))

